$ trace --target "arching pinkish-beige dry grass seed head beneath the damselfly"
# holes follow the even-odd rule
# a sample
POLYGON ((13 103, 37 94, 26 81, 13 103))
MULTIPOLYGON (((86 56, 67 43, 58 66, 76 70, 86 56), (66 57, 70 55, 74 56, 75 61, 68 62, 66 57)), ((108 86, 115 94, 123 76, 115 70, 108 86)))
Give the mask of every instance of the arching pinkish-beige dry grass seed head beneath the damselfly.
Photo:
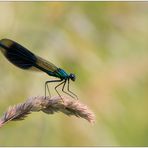
POLYGON ((24 103, 10 106, 3 117, 0 118, 0 127, 11 120, 23 120, 28 114, 36 111, 43 111, 46 114, 63 112, 68 116, 74 115, 94 123, 95 116, 86 105, 69 97, 63 97, 63 100, 64 102, 59 96, 46 97, 46 99, 44 96, 37 96, 29 98, 24 103))

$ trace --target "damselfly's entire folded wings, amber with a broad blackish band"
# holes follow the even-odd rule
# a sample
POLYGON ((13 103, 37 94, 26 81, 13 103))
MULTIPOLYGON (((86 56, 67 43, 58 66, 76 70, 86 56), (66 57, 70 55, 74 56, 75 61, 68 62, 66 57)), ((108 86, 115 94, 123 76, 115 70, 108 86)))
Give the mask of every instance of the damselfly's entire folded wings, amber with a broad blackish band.
POLYGON ((22 69, 44 71, 51 75, 54 75, 53 72, 58 69, 51 62, 33 54, 10 39, 0 40, 0 50, 12 64, 22 69))

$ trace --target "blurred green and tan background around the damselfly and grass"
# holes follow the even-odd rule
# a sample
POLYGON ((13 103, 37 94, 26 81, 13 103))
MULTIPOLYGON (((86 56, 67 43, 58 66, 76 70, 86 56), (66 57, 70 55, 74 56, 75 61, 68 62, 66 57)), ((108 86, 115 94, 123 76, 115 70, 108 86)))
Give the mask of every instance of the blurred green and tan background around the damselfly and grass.
MULTIPOLYGON (((71 90, 96 115, 33 113, 3 126, 0 146, 148 146, 147 2, 0 2, 0 38, 75 73, 71 90)), ((0 54, 1 116, 51 79, 0 54)))

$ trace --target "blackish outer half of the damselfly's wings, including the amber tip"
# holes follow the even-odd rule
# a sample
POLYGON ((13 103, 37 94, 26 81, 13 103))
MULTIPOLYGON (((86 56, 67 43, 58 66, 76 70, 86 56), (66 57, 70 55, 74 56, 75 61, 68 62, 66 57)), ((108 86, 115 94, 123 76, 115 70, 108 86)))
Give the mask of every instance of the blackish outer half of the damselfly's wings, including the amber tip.
POLYGON ((0 50, 12 64, 22 69, 33 67, 37 61, 33 53, 9 39, 0 41, 0 50))

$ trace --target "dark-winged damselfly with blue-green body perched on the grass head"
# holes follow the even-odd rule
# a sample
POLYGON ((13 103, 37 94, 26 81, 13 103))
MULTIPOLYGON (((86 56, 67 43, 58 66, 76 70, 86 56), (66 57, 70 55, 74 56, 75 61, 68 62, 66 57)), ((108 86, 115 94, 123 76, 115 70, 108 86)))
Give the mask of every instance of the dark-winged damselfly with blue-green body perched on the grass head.
POLYGON ((10 39, 0 40, 0 50, 12 64, 21 69, 43 71, 50 76, 57 77, 60 79, 47 82, 63 81, 61 84, 64 84, 65 86, 65 83, 68 80, 68 91, 69 80, 71 79, 72 81, 75 81, 74 74, 68 74, 65 70, 58 68, 53 63, 35 55, 34 53, 30 52, 28 49, 26 49, 15 41, 12 41, 10 39))

